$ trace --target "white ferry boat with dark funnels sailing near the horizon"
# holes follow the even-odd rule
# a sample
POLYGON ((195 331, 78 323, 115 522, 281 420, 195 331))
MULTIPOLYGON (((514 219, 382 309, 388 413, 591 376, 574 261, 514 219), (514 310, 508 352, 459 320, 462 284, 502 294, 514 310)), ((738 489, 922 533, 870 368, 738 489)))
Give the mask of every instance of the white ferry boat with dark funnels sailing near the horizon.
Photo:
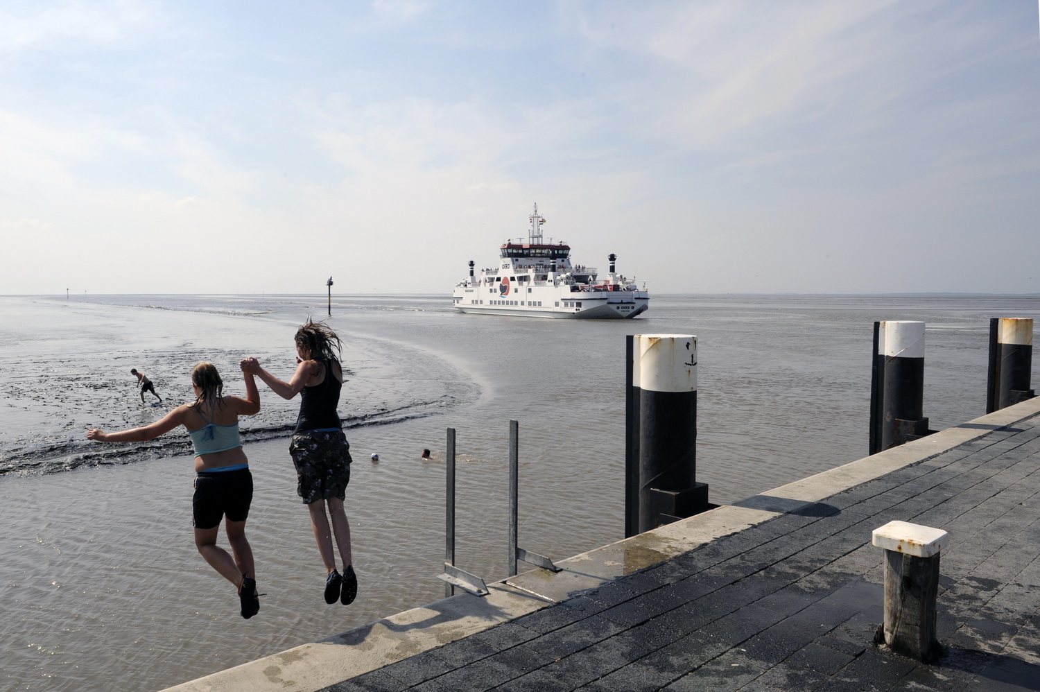
POLYGON ((610 255, 610 271, 600 278, 595 267, 573 264, 571 248, 561 241, 542 241, 545 217, 530 219, 527 242, 506 241, 498 266, 474 274, 456 284, 452 297, 462 312, 518 317, 634 317, 649 307, 650 296, 634 279, 615 272, 617 257, 610 255))

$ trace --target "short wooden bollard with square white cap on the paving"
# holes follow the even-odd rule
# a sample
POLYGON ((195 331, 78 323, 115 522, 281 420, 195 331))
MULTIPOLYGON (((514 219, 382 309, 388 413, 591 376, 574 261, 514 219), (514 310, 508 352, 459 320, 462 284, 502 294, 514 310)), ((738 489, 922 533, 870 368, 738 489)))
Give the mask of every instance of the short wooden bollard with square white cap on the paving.
POLYGON ((939 553, 948 535, 908 521, 874 530, 872 543, 885 550, 885 621, 875 641, 918 661, 934 661, 939 593, 939 553))

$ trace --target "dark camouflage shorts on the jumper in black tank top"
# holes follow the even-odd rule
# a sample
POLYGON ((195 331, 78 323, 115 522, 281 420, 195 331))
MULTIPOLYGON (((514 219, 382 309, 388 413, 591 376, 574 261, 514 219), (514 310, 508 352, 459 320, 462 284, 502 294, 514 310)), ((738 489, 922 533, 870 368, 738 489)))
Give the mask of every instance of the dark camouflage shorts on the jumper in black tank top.
POLYGON ((346 498, 350 482, 350 444, 342 430, 304 430, 292 436, 289 455, 296 467, 296 494, 305 505, 346 498))

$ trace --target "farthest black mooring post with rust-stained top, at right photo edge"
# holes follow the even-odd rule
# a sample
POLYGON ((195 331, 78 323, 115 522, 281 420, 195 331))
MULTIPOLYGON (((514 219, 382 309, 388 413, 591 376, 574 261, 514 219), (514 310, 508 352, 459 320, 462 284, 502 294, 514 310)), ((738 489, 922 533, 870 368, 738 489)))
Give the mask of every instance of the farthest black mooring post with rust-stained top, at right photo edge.
POLYGON ((993 317, 989 321, 989 384, 986 413, 1036 396, 1033 374, 1033 321, 993 317))

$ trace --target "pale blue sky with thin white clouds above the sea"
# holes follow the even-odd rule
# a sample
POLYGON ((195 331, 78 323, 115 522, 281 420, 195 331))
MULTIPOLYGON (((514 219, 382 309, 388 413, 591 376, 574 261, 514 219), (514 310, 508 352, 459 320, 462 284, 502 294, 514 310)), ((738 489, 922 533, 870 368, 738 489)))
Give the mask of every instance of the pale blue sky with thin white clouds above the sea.
POLYGON ((1040 293, 1037 0, 6 0, 0 294, 1040 293))

